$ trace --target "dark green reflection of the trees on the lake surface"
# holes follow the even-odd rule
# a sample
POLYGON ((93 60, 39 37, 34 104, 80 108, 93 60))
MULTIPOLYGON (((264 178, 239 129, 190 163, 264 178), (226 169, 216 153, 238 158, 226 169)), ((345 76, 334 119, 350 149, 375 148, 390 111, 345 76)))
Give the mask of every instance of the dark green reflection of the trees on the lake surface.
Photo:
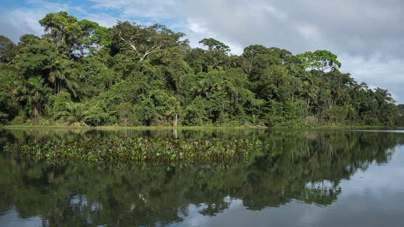
MULTIPOLYGON (((19 133, 2 138, 27 140, 19 133)), ((69 136, 86 138, 94 136, 91 133, 69 136)), ((183 133, 192 136, 188 131, 183 133)), ((48 132, 38 138, 67 137, 56 134, 48 132)), ((198 132, 212 134, 231 137, 227 132, 198 132)), ((179 137, 183 135, 178 132, 179 137)), ((292 200, 326 206, 343 190, 341 180, 349 179, 358 169, 366 171, 371 163, 388 162, 394 147, 403 144, 401 134, 385 132, 240 131, 237 136, 254 137, 269 145, 264 152, 252 153, 248 163, 212 169, 105 169, 74 163, 53 165, 2 154, 0 212, 14 205, 22 218, 41 216, 44 226, 162 226, 182 222, 190 205, 209 216, 225 211, 233 200, 242 200, 243 206, 252 210, 292 200)))

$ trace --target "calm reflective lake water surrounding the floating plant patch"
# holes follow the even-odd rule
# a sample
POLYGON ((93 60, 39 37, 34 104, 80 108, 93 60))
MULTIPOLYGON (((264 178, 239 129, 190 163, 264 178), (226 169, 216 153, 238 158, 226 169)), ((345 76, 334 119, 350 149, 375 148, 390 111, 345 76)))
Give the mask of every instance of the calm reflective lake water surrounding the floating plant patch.
POLYGON ((0 152, 0 226, 402 226, 404 131, 2 130, 10 141, 113 136, 264 140, 243 164, 53 165, 0 152))

